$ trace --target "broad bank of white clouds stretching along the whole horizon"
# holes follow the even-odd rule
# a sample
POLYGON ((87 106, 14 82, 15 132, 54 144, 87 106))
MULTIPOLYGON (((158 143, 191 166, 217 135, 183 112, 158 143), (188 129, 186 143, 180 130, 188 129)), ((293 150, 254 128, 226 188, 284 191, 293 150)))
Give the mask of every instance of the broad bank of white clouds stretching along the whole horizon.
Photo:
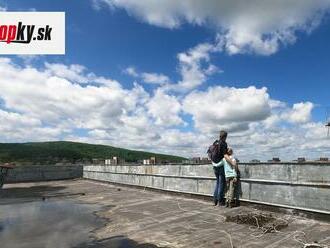
POLYGON ((8 58, 0 58, 0 74, 2 142, 65 139, 205 156, 225 128, 243 160, 330 156, 324 125, 311 120, 314 105, 288 106, 266 88, 215 86, 171 95, 160 86, 150 94, 137 83, 123 89, 81 65, 35 68, 8 58), (189 118, 195 129, 184 121, 189 118))

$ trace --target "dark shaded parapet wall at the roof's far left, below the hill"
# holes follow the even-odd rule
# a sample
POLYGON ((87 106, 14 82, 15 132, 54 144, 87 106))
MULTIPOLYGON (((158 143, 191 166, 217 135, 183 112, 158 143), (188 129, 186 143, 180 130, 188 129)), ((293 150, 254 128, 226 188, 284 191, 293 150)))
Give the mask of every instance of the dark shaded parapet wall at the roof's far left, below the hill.
POLYGON ((50 181, 81 178, 83 175, 82 165, 69 166, 21 166, 9 170, 5 183, 50 181))

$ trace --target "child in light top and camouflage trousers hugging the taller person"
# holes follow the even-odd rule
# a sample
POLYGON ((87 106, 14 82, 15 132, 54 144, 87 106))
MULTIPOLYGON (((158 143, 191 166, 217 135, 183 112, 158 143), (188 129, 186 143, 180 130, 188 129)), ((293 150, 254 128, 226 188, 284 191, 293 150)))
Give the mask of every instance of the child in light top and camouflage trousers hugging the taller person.
MULTIPOLYGON (((234 200, 238 202, 238 199, 234 199, 235 191, 237 187, 237 173, 238 173, 238 165, 236 159, 233 156, 233 149, 228 148, 227 154, 231 159, 232 163, 228 163, 226 159, 222 160, 225 170, 225 177, 226 177, 226 184, 227 184, 227 191, 226 191, 226 207, 232 208, 234 206, 234 200)), ((237 197, 237 195, 236 195, 237 197)))

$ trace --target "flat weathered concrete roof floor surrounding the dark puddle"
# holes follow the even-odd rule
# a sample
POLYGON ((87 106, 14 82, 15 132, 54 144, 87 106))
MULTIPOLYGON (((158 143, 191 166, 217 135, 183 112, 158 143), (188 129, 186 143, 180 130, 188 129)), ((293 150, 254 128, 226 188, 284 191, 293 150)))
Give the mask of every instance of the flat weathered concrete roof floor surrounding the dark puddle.
MULTIPOLYGON (((9 213, 10 209, 22 204, 38 203, 40 206, 44 202, 93 206, 93 211, 83 214, 92 213, 102 223, 86 224, 86 228, 90 228, 87 230, 90 239, 81 240, 81 243, 70 241, 67 247, 292 248, 314 242, 320 246, 313 247, 330 247, 329 222, 253 206, 228 209, 213 206, 211 201, 88 180, 5 184, 0 191, 0 241, 9 235, 4 236, 10 229, 9 224, 13 223, 9 217, 15 219, 15 213, 18 213, 15 211, 6 217, 6 211, 9 213)), ((66 223, 71 215, 65 216, 66 223)), ((72 223, 72 230, 66 227, 64 232, 77 232, 75 225, 78 224, 72 223)), ((22 225, 27 224, 25 221, 22 225)), ((51 227, 48 232, 52 233, 51 227)), ((35 232, 28 235, 31 240, 43 238, 35 232)), ((13 243, 19 239, 15 233, 10 237, 13 243)), ((11 241, 7 240, 7 247, 14 247, 8 242, 11 241)), ((20 247, 29 247, 28 241, 26 246, 24 242, 21 244, 20 247)), ((63 248, 63 244, 61 246, 63 248)), ((50 247, 57 247, 56 242, 50 247)))

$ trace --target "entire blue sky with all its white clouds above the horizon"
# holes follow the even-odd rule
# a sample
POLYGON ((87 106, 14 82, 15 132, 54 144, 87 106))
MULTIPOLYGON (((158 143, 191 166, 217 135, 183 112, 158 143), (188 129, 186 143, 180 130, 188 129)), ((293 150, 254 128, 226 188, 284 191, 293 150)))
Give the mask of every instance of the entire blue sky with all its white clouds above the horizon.
POLYGON ((65 11, 66 54, 0 56, 0 142, 330 157, 330 0, 0 0, 65 11))

